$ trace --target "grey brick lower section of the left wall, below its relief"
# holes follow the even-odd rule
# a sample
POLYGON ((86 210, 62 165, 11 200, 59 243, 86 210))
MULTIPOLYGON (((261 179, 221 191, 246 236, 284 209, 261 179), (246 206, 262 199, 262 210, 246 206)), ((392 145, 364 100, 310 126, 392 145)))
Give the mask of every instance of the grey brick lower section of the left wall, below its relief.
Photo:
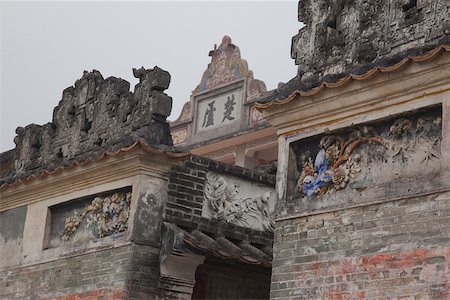
POLYGON ((0 272, 0 299, 153 299, 159 250, 126 245, 0 272))

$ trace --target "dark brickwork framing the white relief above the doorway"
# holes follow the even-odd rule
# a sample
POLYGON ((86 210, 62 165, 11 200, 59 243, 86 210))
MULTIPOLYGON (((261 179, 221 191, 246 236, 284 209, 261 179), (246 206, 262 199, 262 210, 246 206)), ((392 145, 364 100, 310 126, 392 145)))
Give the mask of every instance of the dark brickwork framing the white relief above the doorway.
POLYGON ((224 235, 236 239, 251 239, 254 241, 259 239, 263 244, 271 242, 271 232, 258 232, 230 223, 223 226, 224 224, 217 219, 202 217, 206 173, 208 171, 240 177, 267 186, 275 185, 275 176, 273 175, 192 155, 186 162, 174 167, 170 172, 169 197, 164 209, 164 220, 186 228, 208 232, 216 232, 218 228, 221 228, 224 235))

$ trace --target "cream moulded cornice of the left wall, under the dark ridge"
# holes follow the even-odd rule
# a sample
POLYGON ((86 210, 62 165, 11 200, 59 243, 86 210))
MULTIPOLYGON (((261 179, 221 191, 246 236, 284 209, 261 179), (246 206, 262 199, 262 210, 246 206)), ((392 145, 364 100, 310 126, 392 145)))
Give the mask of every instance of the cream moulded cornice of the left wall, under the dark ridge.
POLYGON ((36 177, 14 185, 3 185, 0 189, 0 211, 136 175, 152 175, 166 179, 170 168, 183 159, 148 153, 142 148, 136 148, 99 161, 62 169, 48 176, 36 177))

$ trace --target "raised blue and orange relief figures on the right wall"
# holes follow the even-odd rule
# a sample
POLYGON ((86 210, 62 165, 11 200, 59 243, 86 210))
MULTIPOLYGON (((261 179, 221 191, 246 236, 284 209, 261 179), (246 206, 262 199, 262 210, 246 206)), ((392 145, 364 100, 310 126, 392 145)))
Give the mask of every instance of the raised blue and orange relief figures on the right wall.
POLYGON ((376 161, 396 168, 409 161, 426 167, 441 159, 441 123, 436 114, 402 117, 384 126, 380 134, 372 126, 360 126, 349 134, 326 135, 320 139, 315 157, 310 149, 298 154, 297 190, 308 197, 345 189, 362 171, 367 174, 369 163, 376 161))

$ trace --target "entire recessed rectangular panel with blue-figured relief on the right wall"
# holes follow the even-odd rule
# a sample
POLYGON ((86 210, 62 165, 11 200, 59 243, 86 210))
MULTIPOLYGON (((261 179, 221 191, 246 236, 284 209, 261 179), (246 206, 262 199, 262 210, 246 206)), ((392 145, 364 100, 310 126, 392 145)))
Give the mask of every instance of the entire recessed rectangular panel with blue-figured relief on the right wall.
POLYGON ((348 185, 364 189, 370 183, 439 171, 441 123, 440 111, 433 109, 317 137, 312 143, 297 142, 294 197, 325 195, 348 185))

